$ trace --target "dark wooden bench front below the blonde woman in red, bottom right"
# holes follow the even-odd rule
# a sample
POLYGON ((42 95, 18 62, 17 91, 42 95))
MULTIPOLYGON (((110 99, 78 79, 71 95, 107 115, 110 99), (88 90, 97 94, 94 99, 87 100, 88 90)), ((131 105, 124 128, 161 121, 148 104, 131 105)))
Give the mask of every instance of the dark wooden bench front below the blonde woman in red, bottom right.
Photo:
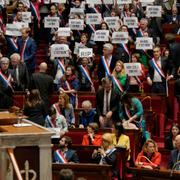
POLYGON ((141 168, 129 168, 129 170, 134 174, 134 180, 180 179, 180 172, 173 172, 171 174, 171 171, 166 169, 149 170, 141 168))

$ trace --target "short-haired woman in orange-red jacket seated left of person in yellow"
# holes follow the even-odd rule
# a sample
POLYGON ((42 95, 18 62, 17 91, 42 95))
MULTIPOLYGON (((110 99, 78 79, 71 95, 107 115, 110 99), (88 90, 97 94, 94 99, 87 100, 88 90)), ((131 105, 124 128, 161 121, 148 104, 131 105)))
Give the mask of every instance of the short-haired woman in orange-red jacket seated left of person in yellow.
POLYGON ((97 134, 98 131, 98 124, 97 123, 90 123, 87 126, 87 134, 83 136, 82 145, 94 145, 94 146, 101 146, 102 145, 102 135, 97 134))

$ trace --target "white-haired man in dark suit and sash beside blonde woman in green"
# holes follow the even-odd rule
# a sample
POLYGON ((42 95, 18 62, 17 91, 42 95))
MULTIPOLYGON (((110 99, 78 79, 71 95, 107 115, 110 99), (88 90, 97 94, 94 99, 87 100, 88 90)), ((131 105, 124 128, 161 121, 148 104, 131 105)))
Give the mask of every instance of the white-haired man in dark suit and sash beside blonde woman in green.
POLYGON ((101 56, 100 63, 98 65, 98 78, 100 84, 101 84, 101 79, 103 77, 109 76, 107 69, 111 74, 116 65, 116 59, 112 55, 112 53, 113 53, 113 45, 111 43, 104 44, 103 56, 101 56))

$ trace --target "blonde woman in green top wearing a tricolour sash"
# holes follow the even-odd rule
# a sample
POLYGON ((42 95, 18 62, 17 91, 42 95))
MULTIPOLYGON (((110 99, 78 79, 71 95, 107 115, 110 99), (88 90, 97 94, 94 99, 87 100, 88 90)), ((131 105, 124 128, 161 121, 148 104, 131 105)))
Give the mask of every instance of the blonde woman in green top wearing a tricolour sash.
POLYGON ((115 83, 113 80, 113 83, 115 85, 115 89, 122 92, 127 89, 127 75, 124 69, 124 63, 120 60, 116 62, 115 68, 112 72, 113 79, 115 78, 118 81, 118 84, 115 83), (119 88, 120 86, 120 88, 119 88), (122 90, 121 90, 122 87, 122 90))

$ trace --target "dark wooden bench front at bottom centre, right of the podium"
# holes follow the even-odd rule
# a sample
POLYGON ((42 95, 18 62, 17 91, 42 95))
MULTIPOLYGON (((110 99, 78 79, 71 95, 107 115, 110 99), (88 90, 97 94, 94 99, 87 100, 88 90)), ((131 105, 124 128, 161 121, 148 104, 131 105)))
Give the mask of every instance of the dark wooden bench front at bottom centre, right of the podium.
POLYGON ((97 165, 88 163, 76 164, 52 164, 53 180, 59 180, 61 169, 72 169, 75 174, 75 180, 78 177, 84 177, 87 180, 111 180, 112 172, 109 165, 97 165))

